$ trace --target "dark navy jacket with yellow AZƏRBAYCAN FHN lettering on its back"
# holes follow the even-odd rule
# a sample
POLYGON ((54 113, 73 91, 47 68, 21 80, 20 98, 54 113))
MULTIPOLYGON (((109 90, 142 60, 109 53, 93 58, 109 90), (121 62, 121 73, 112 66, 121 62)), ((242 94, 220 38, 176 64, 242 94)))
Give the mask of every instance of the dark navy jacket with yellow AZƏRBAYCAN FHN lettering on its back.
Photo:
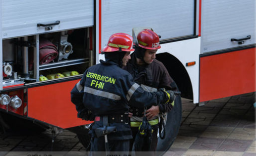
MULTIPOLYGON (((88 68, 82 79, 71 91, 71 100, 78 111, 84 108, 97 116, 124 114, 130 103, 145 107, 163 103, 168 99, 164 92, 146 92, 134 82, 132 75, 114 62, 100 60, 100 64, 88 68)), ((109 139, 132 138, 129 124, 111 123, 117 132, 109 134, 109 139)), ((97 122, 93 129, 103 127, 97 122)))

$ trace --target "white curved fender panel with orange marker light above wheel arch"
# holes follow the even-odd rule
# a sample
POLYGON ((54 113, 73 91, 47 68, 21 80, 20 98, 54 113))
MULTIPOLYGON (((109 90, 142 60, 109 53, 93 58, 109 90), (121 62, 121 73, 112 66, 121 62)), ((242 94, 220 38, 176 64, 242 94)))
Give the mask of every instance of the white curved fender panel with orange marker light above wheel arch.
POLYGON ((194 103, 199 102, 199 55, 201 38, 161 44, 159 53, 170 53, 175 56, 186 69, 193 88, 194 103), (185 56, 185 57, 184 57, 185 56), (196 61, 196 65, 186 67, 187 62, 196 61))

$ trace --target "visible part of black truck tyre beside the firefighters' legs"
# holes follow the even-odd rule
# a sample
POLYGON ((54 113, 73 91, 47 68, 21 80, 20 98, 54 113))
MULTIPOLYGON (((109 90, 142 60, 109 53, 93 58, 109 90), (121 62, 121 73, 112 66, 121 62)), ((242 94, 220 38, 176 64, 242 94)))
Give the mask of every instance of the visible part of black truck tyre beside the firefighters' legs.
MULTIPOLYGON (((176 96, 175 104, 171 112, 167 113, 165 121, 165 138, 161 139, 158 137, 157 143, 157 154, 163 155, 172 145, 175 140, 181 122, 182 115, 182 104, 181 97, 176 96)), ((161 132, 161 134, 163 131, 161 132)), ((162 134, 163 135, 163 134, 162 134)))

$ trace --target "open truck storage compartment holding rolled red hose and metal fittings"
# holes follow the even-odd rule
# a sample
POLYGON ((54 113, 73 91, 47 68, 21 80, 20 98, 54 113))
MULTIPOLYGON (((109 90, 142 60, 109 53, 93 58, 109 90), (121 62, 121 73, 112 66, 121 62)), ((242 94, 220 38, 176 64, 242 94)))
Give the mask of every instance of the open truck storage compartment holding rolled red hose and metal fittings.
POLYGON ((92 27, 3 40, 3 87, 81 76, 92 65, 92 27))

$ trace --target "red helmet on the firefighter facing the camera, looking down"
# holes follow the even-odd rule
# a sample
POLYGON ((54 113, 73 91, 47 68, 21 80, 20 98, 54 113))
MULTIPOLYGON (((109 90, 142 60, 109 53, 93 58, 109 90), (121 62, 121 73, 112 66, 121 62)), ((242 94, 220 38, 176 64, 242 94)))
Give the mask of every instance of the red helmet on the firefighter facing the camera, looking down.
POLYGON ((139 46, 142 48, 153 50, 161 48, 159 44, 159 36, 150 29, 141 31, 137 36, 137 40, 139 46))

